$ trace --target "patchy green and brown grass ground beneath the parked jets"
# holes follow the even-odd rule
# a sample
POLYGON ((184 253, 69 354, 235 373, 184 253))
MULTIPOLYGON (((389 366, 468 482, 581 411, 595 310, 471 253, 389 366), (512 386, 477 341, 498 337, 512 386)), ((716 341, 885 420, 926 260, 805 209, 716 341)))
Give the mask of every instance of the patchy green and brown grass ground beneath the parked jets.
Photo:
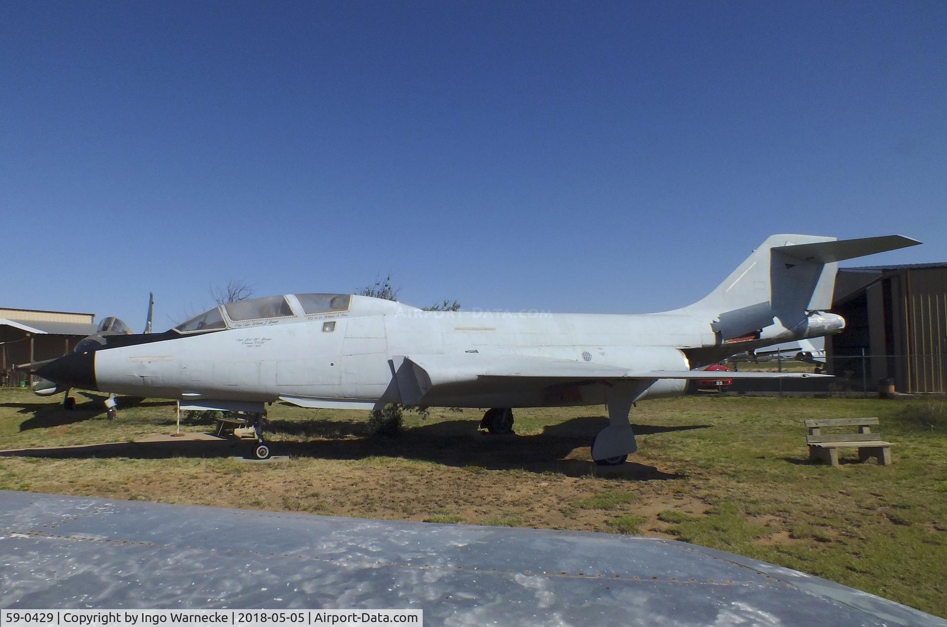
MULTIPOLYGON (((722 548, 947 616, 947 402, 687 397, 640 403, 622 478, 569 476, 603 407, 515 411, 516 436, 481 413, 406 414, 397 438, 367 414, 274 405, 283 461, 230 443, 138 443, 174 431, 173 404, 106 421, 100 403, 0 391, 0 448, 113 442, 95 452, 0 457, 0 488, 443 523, 640 533, 722 548), (881 418, 894 464, 806 462, 807 418, 881 418)), ((186 423, 185 431, 208 424, 186 423)), ((857 461, 854 451, 844 462, 857 461)), ((576 462, 581 465, 580 462, 576 462)))

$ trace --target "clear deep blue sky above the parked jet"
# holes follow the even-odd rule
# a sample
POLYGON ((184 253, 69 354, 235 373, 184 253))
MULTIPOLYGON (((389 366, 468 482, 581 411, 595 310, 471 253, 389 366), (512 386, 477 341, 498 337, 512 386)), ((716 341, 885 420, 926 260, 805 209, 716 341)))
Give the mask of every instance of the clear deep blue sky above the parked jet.
POLYGON ((947 4, 13 1, 0 306, 642 313, 772 233, 947 261, 947 4))

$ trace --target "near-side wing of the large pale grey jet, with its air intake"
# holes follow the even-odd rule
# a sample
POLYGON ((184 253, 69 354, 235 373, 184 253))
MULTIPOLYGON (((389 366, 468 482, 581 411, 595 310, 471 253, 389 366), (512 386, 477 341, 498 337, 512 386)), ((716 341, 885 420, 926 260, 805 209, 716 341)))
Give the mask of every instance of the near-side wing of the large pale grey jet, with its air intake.
MULTIPOLYGON (((658 379, 712 379, 719 372, 705 370, 629 369, 570 359, 530 355, 479 353, 395 356, 392 367, 402 402, 420 403, 432 389, 454 391, 481 384, 547 385, 658 379)), ((830 375, 809 372, 726 372, 727 379, 805 379, 830 375)))

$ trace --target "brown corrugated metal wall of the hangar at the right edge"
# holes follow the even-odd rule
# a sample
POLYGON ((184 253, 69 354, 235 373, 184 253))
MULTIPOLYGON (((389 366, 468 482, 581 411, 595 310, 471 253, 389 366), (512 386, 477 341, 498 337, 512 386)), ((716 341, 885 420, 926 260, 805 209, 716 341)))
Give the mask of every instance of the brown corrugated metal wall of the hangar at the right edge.
POLYGON ((899 282, 896 329, 907 356, 898 378, 905 391, 947 393, 947 268, 905 270, 899 282))

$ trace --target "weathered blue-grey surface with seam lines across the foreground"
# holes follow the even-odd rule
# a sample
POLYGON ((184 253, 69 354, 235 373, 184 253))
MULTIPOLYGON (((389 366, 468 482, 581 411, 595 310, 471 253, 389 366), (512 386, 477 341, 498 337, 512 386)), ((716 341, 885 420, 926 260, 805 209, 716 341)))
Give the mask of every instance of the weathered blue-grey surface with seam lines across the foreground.
POLYGON ((0 491, 3 608, 406 608, 427 625, 947 625, 702 546, 0 491))

